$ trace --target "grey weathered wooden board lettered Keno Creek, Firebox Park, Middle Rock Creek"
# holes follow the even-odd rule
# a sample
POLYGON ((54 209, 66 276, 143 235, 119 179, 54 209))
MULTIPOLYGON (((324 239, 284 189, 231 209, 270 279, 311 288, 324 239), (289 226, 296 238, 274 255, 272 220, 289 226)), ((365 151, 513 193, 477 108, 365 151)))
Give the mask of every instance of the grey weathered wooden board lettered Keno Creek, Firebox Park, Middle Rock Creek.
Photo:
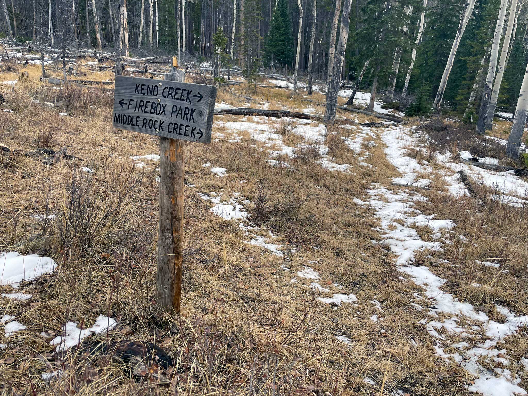
POLYGON ((216 87, 140 77, 116 77, 114 128, 211 143, 216 87))

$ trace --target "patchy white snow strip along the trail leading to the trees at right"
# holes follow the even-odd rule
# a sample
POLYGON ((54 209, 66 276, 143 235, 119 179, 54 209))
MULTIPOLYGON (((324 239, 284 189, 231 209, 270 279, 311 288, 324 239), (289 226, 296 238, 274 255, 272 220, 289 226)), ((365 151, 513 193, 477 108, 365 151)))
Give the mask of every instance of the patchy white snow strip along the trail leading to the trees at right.
MULTIPOLYGON (((436 353, 446 360, 459 364, 468 373, 475 376, 474 384, 468 386, 472 392, 480 392, 486 396, 513 396, 527 394, 518 386, 521 382, 517 373, 508 370, 511 362, 506 350, 496 346, 504 337, 516 333, 528 324, 528 316, 519 316, 504 306, 496 306, 497 311, 506 317, 504 323, 491 320, 472 304, 463 303, 455 295, 442 290, 446 279, 435 275, 426 266, 414 266, 416 254, 430 254, 435 259, 435 252, 441 251, 446 243, 446 233, 456 233, 456 224, 450 219, 439 219, 435 215, 426 216, 416 209, 418 201, 427 198, 411 191, 405 185, 427 186, 431 180, 420 178, 429 175, 433 169, 425 162, 407 156, 405 147, 416 143, 417 134, 414 128, 401 126, 386 129, 372 129, 381 138, 385 148, 384 153, 389 162, 394 165, 401 176, 386 180, 382 184, 372 184, 366 192, 369 200, 355 200, 357 204, 373 210, 373 217, 378 220, 381 244, 394 255, 397 268, 406 274, 415 284, 423 288, 423 297, 430 308, 430 318, 421 320, 427 331, 434 338, 436 353), (394 188, 393 183, 402 185, 394 188), (414 227, 427 226, 431 229, 431 239, 426 242, 420 238, 414 227), (430 252, 429 252, 430 251, 430 252), (443 331, 440 332, 440 329, 443 331), (441 335, 440 333, 444 334, 441 335), (450 342, 450 338, 464 338, 465 342, 450 342), (455 353, 446 353, 444 349, 451 348, 455 353)), ((439 157, 442 157, 439 155, 439 157)), ((450 159, 444 156, 445 162, 450 159)), ((440 175, 447 184, 447 190, 454 195, 467 195, 467 191, 458 181, 457 166, 448 163, 449 169, 441 169, 440 175), (454 169, 453 169, 454 168, 454 169)), ((452 237, 453 235, 451 235, 452 237)), ((463 237, 461 237, 463 238, 463 237)), ((425 308, 412 304, 417 310, 425 308)), ((417 319, 418 322, 418 319, 417 319)), ((447 363, 447 362, 446 362, 447 363)), ((517 367, 528 367, 528 360, 518 362, 517 367)), ((528 370, 528 369, 527 369, 528 370)))

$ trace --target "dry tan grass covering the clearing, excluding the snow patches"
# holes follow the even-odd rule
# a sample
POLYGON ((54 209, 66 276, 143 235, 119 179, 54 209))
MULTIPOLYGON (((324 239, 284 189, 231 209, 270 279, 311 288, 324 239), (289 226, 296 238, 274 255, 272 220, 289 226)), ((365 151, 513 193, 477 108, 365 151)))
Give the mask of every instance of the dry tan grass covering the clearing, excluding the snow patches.
MULTIPOLYGON (((386 250, 372 246, 371 240, 379 239, 378 224, 353 201, 362 199, 371 183, 387 183, 395 176, 380 140, 369 148, 374 167, 354 166, 351 174, 328 172, 315 163, 317 147, 282 158, 290 167, 271 167, 266 152, 259 150, 263 144, 243 133, 241 143, 230 143, 226 137, 210 145, 187 144, 185 183, 194 187, 186 187, 184 193, 183 305, 182 315, 175 317, 153 299, 158 164, 147 160, 138 168, 129 158, 158 153, 157 141, 111 128, 111 100, 91 90, 56 93, 55 99, 68 103, 64 106, 72 115, 59 116, 31 101, 39 98, 36 92, 43 92, 42 98, 51 98, 52 93, 36 82, 35 73, 30 76, 32 82, 2 92, 8 98, 5 106, 15 110, 0 112, 2 145, 20 150, 67 147, 80 159, 45 165, 34 157, 0 157, 0 250, 46 254, 59 264, 55 274, 22 286, 32 299, 0 299, 0 314, 16 315, 28 327, 0 340, 8 343, 0 359, 2 392, 381 396, 400 389, 413 395, 467 394, 469 375, 439 360, 419 323, 426 313, 410 305, 419 289, 399 279, 386 250), (207 162, 227 168, 228 174, 216 177, 202 166, 207 162), (81 172, 81 166, 94 172, 81 172), (267 238, 271 231, 277 237, 272 242, 282 244, 288 255, 275 256, 244 243, 249 238, 238 222, 215 216, 209 210, 212 204, 198 195, 211 191, 222 194, 222 201, 234 192, 247 197, 250 221, 261 228, 251 231, 267 238), (30 218, 45 213, 58 219, 30 218), (317 301, 319 294, 306 287, 309 281, 296 276, 304 266, 319 271, 320 284, 332 293, 356 295, 357 305, 335 309, 317 301), (292 283, 295 277, 298 282, 292 283), (369 303, 374 298, 383 305, 383 322, 370 319, 379 313, 369 303), (172 354, 176 367, 163 373, 166 384, 158 383, 155 373, 130 378, 124 364, 84 354, 84 347, 64 355, 53 353, 49 341, 61 334, 64 323, 87 326, 100 314, 115 318, 118 327, 92 336, 92 341, 107 337, 148 341, 172 354), (41 332, 47 335, 40 336, 41 332), (336 339, 341 335, 350 338, 350 344, 336 339), (42 379, 42 372, 56 369, 64 372, 60 378, 51 383, 42 379), (365 383, 365 376, 378 386, 365 383)), ((96 78, 93 73, 88 77, 96 78)), ((307 107, 301 96, 290 100, 287 90, 258 92, 258 99, 268 100, 270 109, 307 107)), ((233 93, 221 89, 217 101, 233 106, 245 102, 237 97, 236 87, 233 93)), ((313 99, 323 102, 321 95, 314 94, 313 99)), ((317 105, 316 109, 324 110, 317 105)), ((279 124, 280 128, 289 127, 279 124)), ((214 131, 223 133, 218 126, 214 131)), ((329 130, 326 145, 338 163, 355 164, 353 153, 342 144, 341 136, 348 132, 329 130)), ((478 249, 460 255, 456 243, 446 245, 445 257, 457 267, 438 271, 459 282, 452 291, 486 307, 502 299, 523 312, 525 282, 517 280, 524 280, 521 263, 528 249, 518 212, 470 203, 463 209, 445 195, 429 194, 431 204, 420 210, 455 220, 468 238, 478 241, 478 249), (503 274, 486 267, 493 276, 488 277, 470 265, 477 257, 502 260, 511 271, 503 274), (486 279, 489 290, 475 293, 467 287, 486 279)), ((426 256, 419 259, 429 263, 426 256)), ((9 293, 11 288, 0 290, 9 293)), ((505 340, 512 347, 523 343, 515 337, 505 340)))

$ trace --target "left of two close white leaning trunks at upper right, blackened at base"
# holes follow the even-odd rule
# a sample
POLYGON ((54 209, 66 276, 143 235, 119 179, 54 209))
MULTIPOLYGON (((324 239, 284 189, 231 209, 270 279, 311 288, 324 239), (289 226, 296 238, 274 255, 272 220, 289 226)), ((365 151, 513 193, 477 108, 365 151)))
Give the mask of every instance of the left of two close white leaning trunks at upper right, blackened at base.
MULTIPOLYGON (((517 0, 514 0, 517 1, 517 0)), ((501 43, 501 36, 504 27, 504 18, 506 16, 507 0, 501 0, 501 7, 497 17, 497 24, 495 25, 495 33, 493 35, 492 51, 489 54, 489 66, 482 91, 482 99, 480 100, 480 108, 478 111, 477 133, 484 135, 486 115, 489 107, 489 100, 492 95, 493 80, 495 79, 495 72, 497 70, 497 58, 499 45, 501 43)))

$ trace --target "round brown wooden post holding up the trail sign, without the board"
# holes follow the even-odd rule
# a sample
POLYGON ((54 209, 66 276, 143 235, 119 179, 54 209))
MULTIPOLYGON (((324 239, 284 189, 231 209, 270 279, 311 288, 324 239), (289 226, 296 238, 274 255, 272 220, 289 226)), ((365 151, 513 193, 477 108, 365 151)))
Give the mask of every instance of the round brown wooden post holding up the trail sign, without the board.
MULTIPOLYGON (((171 68, 166 81, 185 80, 185 72, 171 68)), ((183 143, 159 138, 159 233, 156 303, 180 313, 183 254, 183 143)))

